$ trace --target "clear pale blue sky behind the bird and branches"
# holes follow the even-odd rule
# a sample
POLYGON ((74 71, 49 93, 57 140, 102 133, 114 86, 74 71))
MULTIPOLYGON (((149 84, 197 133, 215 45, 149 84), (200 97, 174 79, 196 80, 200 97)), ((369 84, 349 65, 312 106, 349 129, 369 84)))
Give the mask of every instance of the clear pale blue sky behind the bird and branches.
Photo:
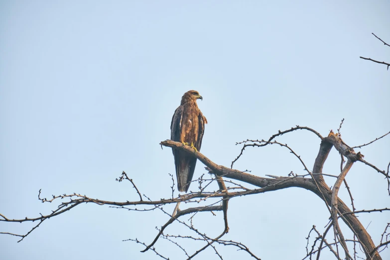
MULTIPOLYGON (((390 47, 371 34, 390 43, 389 13, 386 0, 1 0, 0 213, 50 213, 57 204, 40 203, 39 189, 47 198, 76 192, 138 200, 130 183, 115 181, 123 170, 141 193, 168 198, 173 156, 158 143, 170 137, 174 110, 191 89, 203 96, 198 104, 209 122, 201 152, 225 166, 240 152, 236 141, 295 125, 327 135, 345 118, 342 137, 351 146, 381 136, 390 130, 390 71, 359 56, 390 62, 390 47)), ((295 131, 277 140, 312 168, 318 137, 295 131)), ((385 169, 389 147, 387 136, 356 150, 385 169)), ((339 160, 333 149, 324 173, 338 174, 339 160)), ((234 167, 258 176, 304 173, 287 149, 274 145, 247 149, 234 167)), ((194 178, 202 173, 198 162, 194 178)), ((356 163, 346 179, 358 210, 390 207, 383 175, 356 163)), ((334 179, 326 180, 333 186, 334 179)), ((350 205, 344 186, 339 195, 350 205)), ((173 205, 165 209, 172 212, 173 205)), ((323 232, 328 218, 324 203, 304 189, 235 198, 225 239, 244 243, 262 260, 302 259, 312 225, 323 232)), ((390 212, 359 219, 378 245, 390 212)), ((159 259, 122 240, 149 244, 167 220, 157 211, 82 205, 43 222, 20 243, 0 235, 0 259, 159 259)), ((0 222, 0 231, 23 234, 32 224, 0 222)), ((217 236, 223 214, 197 214, 194 225, 217 236)), ((193 234, 177 223, 166 233, 193 234)), ((204 246, 178 242, 189 254, 204 246)), ((170 259, 185 258, 166 240, 155 246, 170 259)), ((233 247, 217 249, 224 260, 251 259, 233 247)), ((382 257, 390 259, 390 250, 382 257)), ((197 259, 218 257, 209 248, 197 259)))

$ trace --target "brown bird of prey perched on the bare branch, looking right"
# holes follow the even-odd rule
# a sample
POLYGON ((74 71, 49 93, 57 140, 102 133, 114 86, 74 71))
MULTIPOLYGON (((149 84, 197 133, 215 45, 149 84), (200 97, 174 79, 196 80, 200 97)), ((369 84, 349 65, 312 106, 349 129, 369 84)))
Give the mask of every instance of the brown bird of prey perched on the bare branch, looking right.
MULTIPOLYGON (((200 151, 207 120, 196 104, 197 99, 203 100, 195 90, 184 93, 180 106, 172 117, 171 140, 191 145, 196 151, 200 151)), ((172 152, 175 158, 177 188, 187 192, 194 175, 196 157, 173 148, 172 152)))

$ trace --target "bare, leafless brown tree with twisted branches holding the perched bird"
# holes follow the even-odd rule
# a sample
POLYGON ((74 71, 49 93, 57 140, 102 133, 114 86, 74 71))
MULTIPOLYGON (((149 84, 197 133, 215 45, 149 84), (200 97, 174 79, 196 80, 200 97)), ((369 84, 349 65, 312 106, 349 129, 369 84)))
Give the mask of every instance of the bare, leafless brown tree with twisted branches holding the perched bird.
MULTIPOLYGON (((343 121, 342 121, 343 123, 343 121)), ((340 128, 338 129, 338 133, 333 133, 331 131, 328 136, 322 137, 319 133, 317 133, 314 130, 311 130, 306 127, 299 127, 297 126, 296 128, 292 128, 291 130, 285 130, 285 131, 279 131, 279 133, 272 135, 268 141, 264 140, 249 140, 247 139, 246 141, 243 141, 241 143, 244 143, 243 149, 241 150, 240 155, 232 162, 237 161, 237 159, 243 154, 243 151, 245 147, 247 146, 254 146, 254 147, 262 147, 268 144, 277 144, 283 147, 286 147, 289 149, 289 152, 294 154, 295 157, 299 159, 301 164, 304 166, 304 170, 307 171, 308 174, 305 175, 297 175, 294 173, 290 173, 287 177, 283 176, 275 176, 275 175, 267 175, 269 178, 266 177, 260 177, 256 175, 252 175, 248 173, 248 170, 246 171, 240 171, 232 168, 227 168, 222 165, 218 165, 215 162, 211 161, 209 158, 207 158, 205 155, 202 153, 192 149, 188 145, 183 145, 180 142, 174 142, 172 140, 166 140, 162 141, 160 145, 164 145, 167 147, 172 147, 174 149, 179 149, 181 151, 185 151, 191 156, 196 157, 199 159, 203 164, 205 164, 206 169, 210 174, 214 174, 215 178, 211 179, 206 179, 203 177, 203 175, 198 179, 198 180, 193 180, 199 182, 199 191, 198 192, 189 192, 184 195, 179 195, 178 197, 173 197, 173 191, 174 191, 174 184, 171 186, 172 188, 172 197, 168 199, 159 199, 159 200, 151 200, 149 197, 147 197, 145 194, 143 194, 143 197, 146 198, 146 200, 142 200, 141 192, 137 189, 135 186, 135 183, 132 181, 132 179, 129 178, 129 176, 126 174, 126 172, 122 173, 122 176, 117 178, 117 181, 123 181, 125 179, 129 180, 130 183, 132 184, 133 188, 136 190, 140 200, 139 201, 123 201, 123 202, 116 202, 116 201, 106 201, 106 200, 99 200, 99 199, 94 199, 87 197, 86 195, 81 195, 77 193, 73 194, 62 194, 58 196, 52 195, 52 198, 46 199, 46 198, 41 198, 41 190, 39 190, 38 193, 38 199, 42 203, 53 203, 53 202, 58 202, 61 200, 59 203, 58 207, 56 210, 52 211, 51 214, 48 215, 42 215, 40 214, 40 217, 36 218, 24 218, 24 219, 10 219, 5 217, 4 215, 0 214, 0 221, 3 222, 34 222, 34 221, 39 221, 39 223, 33 227, 27 234, 25 235, 18 235, 18 234, 13 234, 13 233, 7 233, 7 232, 1 232, 0 234, 5 234, 5 235, 11 235, 11 236, 17 236, 21 237, 21 240, 24 239, 26 236, 28 236, 33 230, 35 230, 44 220, 49 219, 51 217, 58 216, 59 214, 62 214, 80 204, 84 203, 93 203, 97 204, 100 206, 107 205, 109 207, 113 208, 122 208, 122 209, 127 209, 127 210, 135 210, 135 211, 153 211, 155 209, 160 209, 163 211, 165 214, 169 216, 169 220, 161 227, 161 229, 158 230, 158 234, 154 238, 151 244, 146 245, 143 242, 138 241, 137 239, 130 239, 130 241, 139 243, 141 245, 145 246, 145 249, 141 252, 146 252, 149 249, 154 251, 159 257, 163 259, 168 259, 165 258, 164 256, 160 255, 155 251, 154 245, 157 242, 157 240, 160 237, 163 237, 164 239, 167 239, 171 243, 175 244, 180 250, 182 250, 186 257, 188 259, 192 259, 195 256, 197 256, 200 252, 204 251, 208 247, 211 247, 217 256, 222 259, 221 254, 218 252, 216 246, 218 245, 224 245, 224 246, 235 246, 239 250, 244 250, 248 252, 252 257, 255 259, 259 259, 256 257, 246 246, 244 246, 241 243, 234 242, 234 241, 225 241, 222 240, 221 238, 229 232, 229 225, 228 225, 228 203, 230 199, 233 199, 238 196, 247 196, 247 195, 255 195, 259 193, 265 193, 269 191, 276 191, 280 189, 285 189, 285 188, 290 188, 290 187, 299 187, 299 188, 304 188, 308 191, 313 192, 316 194, 318 197, 320 197, 325 205, 328 207, 329 212, 331 213, 331 224, 327 227, 326 231, 324 232, 323 235, 321 235, 316 229, 315 226, 313 226, 312 230, 309 232, 309 235, 307 237, 308 243, 309 243, 309 237, 311 232, 316 232, 317 237, 314 240, 314 243, 312 245, 312 248, 309 252, 306 245, 306 252, 307 252, 307 257, 311 259, 311 256, 315 253, 317 253, 317 259, 320 257, 321 250, 324 248, 329 248, 332 253, 336 256, 336 258, 339 259, 338 256, 338 245, 341 245, 346 258, 347 259, 352 259, 352 256, 349 254, 347 243, 346 242, 354 242, 354 257, 356 258, 356 242, 361 245, 363 248, 364 254, 366 255, 367 259, 372 259, 372 260, 380 260, 381 257, 379 255, 378 250, 382 247, 387 248, 388 247, 388 236, 389 234, 387 233, 387 228, 385 229, 385 232, 382 235, 382 240, 379 246, 375 246, 373 243, 370 235, 367 233, 366 228, 360 223, 359 219, 357 218, 356 214, 358 213, 368 213, 368 212, 384 212, 388 211, 388 208, 383 208, 383 209, 373 209, 373 210, 361 210, 361 211, 356 211, 354 202, 353 202, 353 197, 352 197, 352 192, 345 181, 345 176, 348 173, 349 169, 352 167, 353 163, 355 161, 360 161, 363 162, 369 166, 371 166, 373 169, 377 170, 378 172, 384 174, 387 178, 389 177, 389 168, 390 168, 390 163, 388 165, 388 172, 381 171, 379 170, 375 165, 372 165, 371 163, 363 160, 363 154, 360 152, 356 153, 353 149, 353 147, 348 146, 340 136, 340 129, 342 126, 342 123, 340 124, 340 128), (309 130, 314 132, 318 137, 321 139, 320 143, 320 148, 318 155, 315 159, 314 165, 313 165, 313 170, 310 171, 306 164, 303 162, 302 158, 294 151, 292 150, 291 147, 289 147, 287 144, 283 144, 280 142, 277 142, 274 140, 274 138, 278 135, 282 135, 287 132, 291 132, 294 130, 309 130), (323 165, 328 157, 328 154, 332 147, 335 147, 335 149, 341 154, 342 157, 342 163, 341 166, 343 166, 343 159, 344 157, 347 160, 346 165, 344 168, 341 170, 341 174, 339 176, 331 175, 331 174, 323 174, 322 173, 322 168, 323 165), (327 176, 332 176, 332 177, 337 177, 336 182, 333 185, 333 189, 329 188, 329 186, 325 183, 323 175, 327 176), (233 180, 238 180, 239 182, 251 184, 254 186, 257 186, 258 188, 255 189, 249 189, 246 188, 244 185, 237 183, 233 180), (205 189, 208 187, 212 187, 212 183, 215 184, 217 182, 218 184, 218 190, 217 191, 206 191, 205 189), (340 199, 338 198, 338 191, 341 187, 341 183, 344 182, 346 185, 346 188, 348 190, 348 193, 351 198, 351 203, 352 203, 352 211, 348 208, 348 206, 340 199), (227 187, 226 183, 232 183, 234 184, 234 187, 227 187), (203 202, 206 200, 212 200, 211 203, 207 206, 203 207, 190 207, 184 210, 179 209, 180 202, 185 202, 185 203, 199 203, 203 202), (221 203, 222 205, 216 205, 217 203, 221 203), (173 210, 172 214, 167 213, 165 210, 162 209, 163 205, 168 205, 168 204, 176 204, 175 208, 173 210), (137 209, 136 207, 141 205, 142 207, 144 206, 144 209, 137 209), (215 211, 223 211, 224 213, 224 230, 222 233, 216 237, 216 238, 210 238, 206 234, 201 233, 198 231, 192 224, 192 219, 194 216, 200 212, 215 212, 215 211), (191 221, 190 224, 187 222, 184 222, 182 220, 179 220, 179 217, 191 214, 192 216, 190 217, 189 221, 191 221), (351 231, 354 234, 354 239, 353 240, 348 240, 344 238, 343 233, 340 229, 339 223, 338 223, 338 218, 341 218, 344 223, 348 226, 348 228, 351 229, 351 231), (178 223, 186 226, 188 229, 194 231, 196 233, 195 237, 188 237, 191 239, 199 240, 199 241, 204 241, 206 242, 206 245, 204 245, 201 249, 197 250, 194 252, 192 255, 187 253, 186 249, 179 245, 176 241, 173 239, 176 238, 186 238, 182 236, 168 236, 164 234, 164 230, 173 222, 177 221, 178 223), (333 227, 334 229, 334 234, 335 234, 335 243, 329 244, 325 236, 329 229, 333 227), (386 234, 386 236, 385 236, 386 234), (356 239, 355 239, 356 237, 356 239), (384 237, 386 237, 386 241, 383 241, 384 237), (314 247, 317 243, 317 241, 320 242, 320 246, 318 250, 315 250, 314 247), (325 246, 323 245, 325 243, 325 246), (332 249, 332 245, 336 245, 336 250, 332 249)), ((382 138, 382 137, 380 137, 382 138)), ((379 139, 379 138, 378 138, 379 139)), ((241 144, 237 143, 237 144, 241 144)), ((372 143, 372 142, 371 142, 372 143)), ((172 181, 174 183, 173 177, 171 176, 172 181)), ((389 181, 389 179, 388 179, 389 181)), ((213 213, 214 214, 214 213, 213 213)), ((20 240, 20 241, 21 241, 20 240)), ((359 256, 358 256, 359 257, 359 256)))

